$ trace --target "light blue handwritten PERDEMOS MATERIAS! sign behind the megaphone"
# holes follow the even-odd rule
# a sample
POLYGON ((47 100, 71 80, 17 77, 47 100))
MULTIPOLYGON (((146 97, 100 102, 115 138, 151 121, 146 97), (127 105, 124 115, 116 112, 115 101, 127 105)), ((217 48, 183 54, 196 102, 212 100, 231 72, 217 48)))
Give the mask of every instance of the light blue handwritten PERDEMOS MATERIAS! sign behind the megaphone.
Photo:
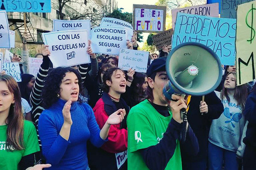
POLYGON ((211 48, 223 65, 235 64, 236 20, 179 12, 172 48, 183 42, 199 42, 211 48))

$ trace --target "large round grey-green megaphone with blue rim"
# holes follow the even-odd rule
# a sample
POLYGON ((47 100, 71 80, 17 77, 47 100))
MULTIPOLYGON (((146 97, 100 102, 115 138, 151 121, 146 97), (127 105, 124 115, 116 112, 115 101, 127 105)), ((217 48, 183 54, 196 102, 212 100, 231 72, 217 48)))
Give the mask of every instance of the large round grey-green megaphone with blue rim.
POLYGON ((221 83, 222 67, 217 54, 198 42, 185 42, 176 46, 167 56, 166 72, 169 78, 163 88, 164 96, 172 94, 204 96, 221 83))

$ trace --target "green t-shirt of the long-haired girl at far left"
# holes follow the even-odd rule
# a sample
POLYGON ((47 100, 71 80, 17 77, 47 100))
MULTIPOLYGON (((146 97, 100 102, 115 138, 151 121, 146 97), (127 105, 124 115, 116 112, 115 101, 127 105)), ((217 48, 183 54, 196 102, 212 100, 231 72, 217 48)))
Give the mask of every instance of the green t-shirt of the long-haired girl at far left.
POLYGON ((19 162, 22 156, 33 154, 40 151, 38 144, 38 137, 36 130, 32 122, 24 122, 24 147, 23 150, 13 150, 13 152, 7 151, 5 145, 7 140, 7 126, 0 126, 0 169, 4 170, 16 170, 19 169, 19 162))

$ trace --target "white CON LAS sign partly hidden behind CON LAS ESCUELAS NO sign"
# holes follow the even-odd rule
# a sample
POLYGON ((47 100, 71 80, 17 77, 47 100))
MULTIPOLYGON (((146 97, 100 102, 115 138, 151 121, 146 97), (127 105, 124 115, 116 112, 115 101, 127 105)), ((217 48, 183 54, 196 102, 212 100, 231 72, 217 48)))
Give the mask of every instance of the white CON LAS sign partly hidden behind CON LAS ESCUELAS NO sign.
POLYGON ((87 30, 90 37, 90 20, 53 20, 53 32, 64 30, 87 30))

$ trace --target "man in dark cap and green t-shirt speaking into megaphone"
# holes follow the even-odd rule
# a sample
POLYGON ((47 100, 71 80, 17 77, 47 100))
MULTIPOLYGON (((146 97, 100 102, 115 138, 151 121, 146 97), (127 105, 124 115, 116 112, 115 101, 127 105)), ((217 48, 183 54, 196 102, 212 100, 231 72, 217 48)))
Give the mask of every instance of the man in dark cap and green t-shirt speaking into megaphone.
POLYGON ((188 125, 185 143, 180 143, 182 130, 180 110, 187 108, 186 100, 172 95, 167 100, 163 87, 168 81, 166 58, 152 62, 148 71, 148 99, 134 106, 127 117, 128 169, 181 170, 183 147, 197 155, 197 137, 188 125))

